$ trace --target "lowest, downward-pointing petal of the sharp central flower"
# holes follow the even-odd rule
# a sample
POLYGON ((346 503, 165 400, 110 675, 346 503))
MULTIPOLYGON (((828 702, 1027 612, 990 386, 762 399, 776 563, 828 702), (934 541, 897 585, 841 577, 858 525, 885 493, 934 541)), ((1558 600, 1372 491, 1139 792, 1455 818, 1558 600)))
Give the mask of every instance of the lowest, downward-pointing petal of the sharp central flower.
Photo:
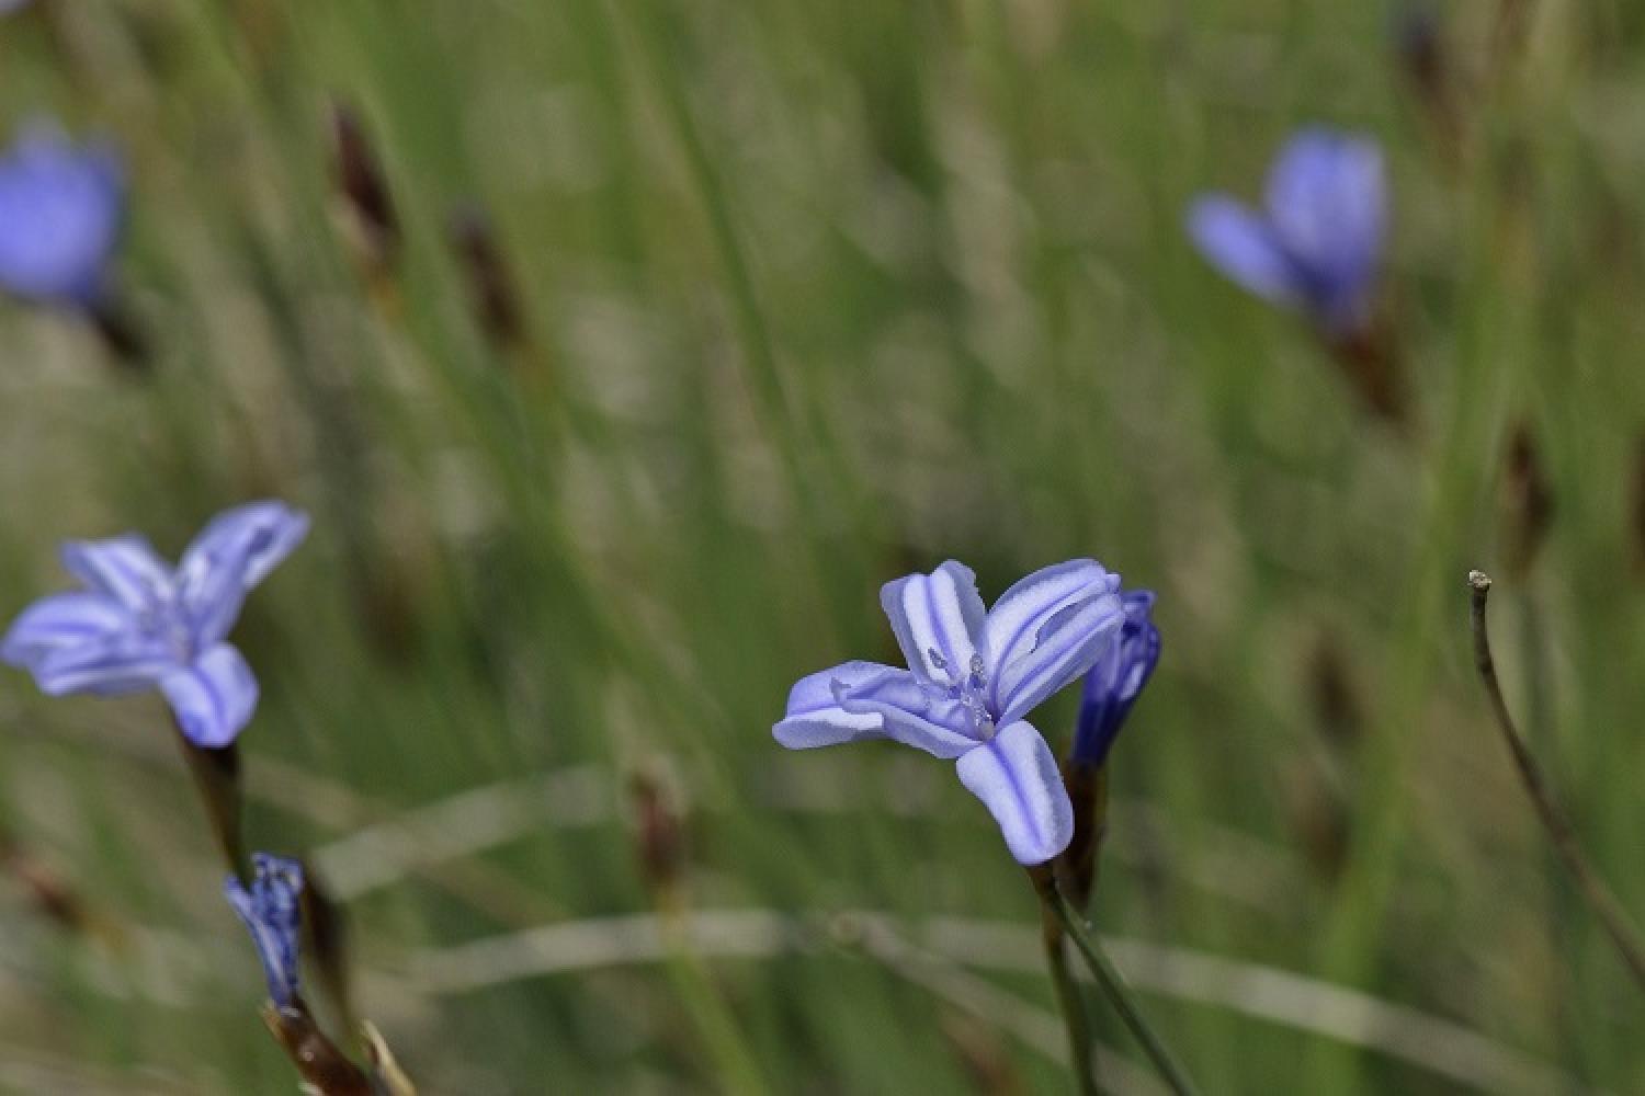
POLYGON ((1074 805, 1056 758, 1030 723, 1010 723, 959 759, 959 782, 1000 823, 1005 846, 1022 864, 1043 864, 1074 836, 1074 805))

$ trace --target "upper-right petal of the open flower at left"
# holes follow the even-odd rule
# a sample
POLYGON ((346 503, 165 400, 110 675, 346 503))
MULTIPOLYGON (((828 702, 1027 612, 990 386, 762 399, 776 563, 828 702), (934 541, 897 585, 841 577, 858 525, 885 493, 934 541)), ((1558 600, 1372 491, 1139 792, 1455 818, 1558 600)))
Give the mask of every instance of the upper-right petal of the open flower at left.
POLYGON ((183 611, 199 646, 229 634, 247 590, 303 542, 308 527, 308 514, 280 501, 248 503, 211 519, 178 565, 183 611))

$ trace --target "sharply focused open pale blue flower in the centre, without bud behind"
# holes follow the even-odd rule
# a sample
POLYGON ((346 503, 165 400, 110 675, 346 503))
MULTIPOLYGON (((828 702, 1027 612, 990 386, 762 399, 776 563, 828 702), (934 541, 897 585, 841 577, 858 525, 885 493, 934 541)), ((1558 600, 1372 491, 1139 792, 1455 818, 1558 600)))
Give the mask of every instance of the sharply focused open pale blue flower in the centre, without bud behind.
POLYGON ((949 560, 890 582, 880 605, 911 669, 846 662, 803 679, 773 728, 790 749, 890 738, 944 759, 1000 823, 1023 864, 1061 853, 1074 812, 1051 749, 1026 715, 1073 684, 1125 621, 1120 578, 1077 559, 1038 570, 984 610, 977 578, 949 560))

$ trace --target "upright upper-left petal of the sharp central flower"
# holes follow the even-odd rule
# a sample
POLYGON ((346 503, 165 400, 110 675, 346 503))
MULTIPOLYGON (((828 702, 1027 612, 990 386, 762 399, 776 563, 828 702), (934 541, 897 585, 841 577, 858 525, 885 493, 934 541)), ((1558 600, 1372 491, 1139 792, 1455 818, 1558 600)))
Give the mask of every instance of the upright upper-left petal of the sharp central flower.
POLYGON ((929 575, 908 575, 880 588, 880 605, 892 619, 897 644, 908 669, 926 680, 959 684, 982 656, 989 662, 984 636, 982 596, 977 575, 964 564, 948 560, 929 575))

